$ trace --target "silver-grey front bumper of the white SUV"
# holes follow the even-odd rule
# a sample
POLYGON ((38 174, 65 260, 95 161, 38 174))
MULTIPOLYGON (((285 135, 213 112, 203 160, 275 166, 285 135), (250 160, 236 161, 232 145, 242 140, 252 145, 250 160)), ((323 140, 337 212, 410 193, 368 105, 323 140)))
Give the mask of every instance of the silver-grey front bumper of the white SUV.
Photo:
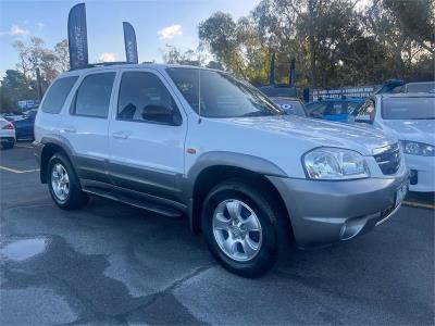
POLYGON ((396 193, 409 173, 394 178, 320 181, 269 177, 290 216, 299 248, 349 240, 389 218, 400 206, 396 193))

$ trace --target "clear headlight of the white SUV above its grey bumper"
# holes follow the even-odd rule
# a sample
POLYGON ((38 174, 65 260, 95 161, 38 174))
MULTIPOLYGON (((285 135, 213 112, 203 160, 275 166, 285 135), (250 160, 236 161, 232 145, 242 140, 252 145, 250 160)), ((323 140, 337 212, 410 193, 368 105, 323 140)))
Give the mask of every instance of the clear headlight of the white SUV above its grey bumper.
POLYGON ((364 158, 351 150, 318 148, 304 154, 302 161, 311 179, 343 180, 370 176, 364 158))

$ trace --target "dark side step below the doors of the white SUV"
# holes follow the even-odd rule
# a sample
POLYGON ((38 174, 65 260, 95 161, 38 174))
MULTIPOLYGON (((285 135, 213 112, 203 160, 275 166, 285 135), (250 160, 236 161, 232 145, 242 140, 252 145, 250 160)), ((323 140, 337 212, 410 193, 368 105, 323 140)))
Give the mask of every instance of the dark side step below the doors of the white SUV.
POLYGON ((110 190, 107 191, 107 190, 103 190, 100 188, 95 188, 95 187, 84 187, 83 191, 90 193, 90 195, 98 196, 98 197, 114 200, 117 202, 126 203, 128 205, 139 208, 139 209, 152 212, 152 213, 157 213, 157 214, 170 217, 170 218, 179 218, 183 216, 183 213, 177 210, 166 208, 163 205, 158 205, 158 204, 154 204, 154 203, 151 203, 151 202, 148 202, 145 200, 132 198, 128 196, 124 196, 122 193, 114 193, 110 190))

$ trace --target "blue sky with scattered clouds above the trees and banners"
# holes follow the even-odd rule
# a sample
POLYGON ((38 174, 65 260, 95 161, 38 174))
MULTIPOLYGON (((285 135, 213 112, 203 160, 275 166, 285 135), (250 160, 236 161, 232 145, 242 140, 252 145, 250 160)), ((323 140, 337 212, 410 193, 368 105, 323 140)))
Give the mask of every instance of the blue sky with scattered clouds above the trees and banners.
POLYGON ((11 43, 40 37, 48 48, 67 38, 70 9, 86 3, 89 62, 124 61, 122 22, 136 29, 139 62, 162 62, 165 45, 182 50, 198 45, 198 24, 223 11, 249 14, 259 0, 0 0, 0 78, 18 61, 11 43))

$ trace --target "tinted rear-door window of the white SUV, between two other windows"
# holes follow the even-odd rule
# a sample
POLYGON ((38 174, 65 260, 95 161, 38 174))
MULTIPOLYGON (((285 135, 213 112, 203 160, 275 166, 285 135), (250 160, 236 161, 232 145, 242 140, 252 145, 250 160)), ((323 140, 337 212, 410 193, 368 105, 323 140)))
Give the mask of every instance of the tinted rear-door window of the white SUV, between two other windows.
POLYGON ((95 74, 85 77, 75 96, 72 113, 107 117, 115 73, 95 74))

